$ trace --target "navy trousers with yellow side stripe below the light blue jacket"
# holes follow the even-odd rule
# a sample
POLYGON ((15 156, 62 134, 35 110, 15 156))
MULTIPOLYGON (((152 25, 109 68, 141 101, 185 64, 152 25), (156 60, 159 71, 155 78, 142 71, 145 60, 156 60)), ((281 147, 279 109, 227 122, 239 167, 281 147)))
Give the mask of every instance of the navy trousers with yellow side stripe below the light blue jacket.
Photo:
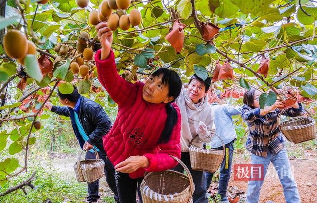
MULTIPOLYGON (((230 180, 232 157, 233 157, 233 142, 234 141, 231 141, 230 143, 225 145, 226 149, 225 149, 224 159, 220 166, 218 193, 220 194, 221 197, 226 197, 227 187, 230 180)), ((223 150, 223 147, 221 146, 214 149, 223 150)), ((209 185, 211 184, 212 177, 213 177, 213 173, 206 172, 207 188, 209 188, 209 185)))

